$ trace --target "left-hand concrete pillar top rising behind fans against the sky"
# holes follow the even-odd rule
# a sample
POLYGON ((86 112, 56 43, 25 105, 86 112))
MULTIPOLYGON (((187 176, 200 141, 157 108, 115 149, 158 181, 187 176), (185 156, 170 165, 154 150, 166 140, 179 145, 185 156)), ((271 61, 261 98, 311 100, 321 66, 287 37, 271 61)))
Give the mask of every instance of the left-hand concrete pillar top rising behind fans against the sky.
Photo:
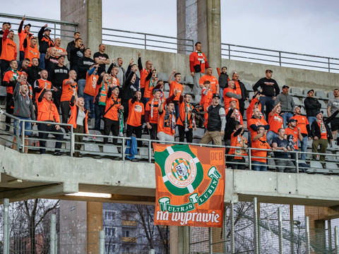
MULTIPOLYGON (((102 41, 102 0, 60 0, 61 20, 79 23, 83 44, 93 54, 102 41)), ((72 35, 69 34, 69 35, 72 35)))

